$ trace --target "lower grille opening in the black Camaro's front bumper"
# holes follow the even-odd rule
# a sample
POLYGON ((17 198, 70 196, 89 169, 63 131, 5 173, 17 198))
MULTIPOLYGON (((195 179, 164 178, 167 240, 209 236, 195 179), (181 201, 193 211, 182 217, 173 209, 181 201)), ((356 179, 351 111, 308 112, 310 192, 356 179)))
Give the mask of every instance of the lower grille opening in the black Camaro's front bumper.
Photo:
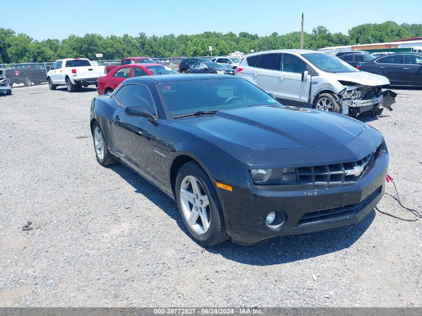
POLYGON ((336 208, 323 210, 323 211, 306 213, 304 216, 302 216, 302 218, 296 224, 296 227, 304 226, 304 225, 319 222, 319 221, 337 219, 344 216, 358 214, 381 193, 381 190, 382 190, 382 187, 379 187, 372 194, 370 194, 365 200, 359 203, 336 207, 336 208))

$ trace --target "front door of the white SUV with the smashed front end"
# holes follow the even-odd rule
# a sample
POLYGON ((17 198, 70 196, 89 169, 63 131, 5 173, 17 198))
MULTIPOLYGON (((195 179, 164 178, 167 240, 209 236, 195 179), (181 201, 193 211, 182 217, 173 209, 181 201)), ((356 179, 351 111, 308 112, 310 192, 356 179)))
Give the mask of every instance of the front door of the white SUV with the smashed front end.
POLYGON ((310 81, 302 82, 302 74, 310 71, 308 64, 299 57, 283 53, 278 72, 276 98, 285 105, 308 106, 310 81))

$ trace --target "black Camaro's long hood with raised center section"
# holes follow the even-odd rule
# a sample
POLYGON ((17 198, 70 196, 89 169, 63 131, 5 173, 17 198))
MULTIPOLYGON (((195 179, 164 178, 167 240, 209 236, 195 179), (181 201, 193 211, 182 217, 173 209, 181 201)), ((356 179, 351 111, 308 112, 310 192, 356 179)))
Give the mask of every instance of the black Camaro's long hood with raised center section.
POLYGON ((365 124, 343 115, 298 107, 251 106, 213 116, 176 120, 251 149, 297 149, 343 145, 365 124))

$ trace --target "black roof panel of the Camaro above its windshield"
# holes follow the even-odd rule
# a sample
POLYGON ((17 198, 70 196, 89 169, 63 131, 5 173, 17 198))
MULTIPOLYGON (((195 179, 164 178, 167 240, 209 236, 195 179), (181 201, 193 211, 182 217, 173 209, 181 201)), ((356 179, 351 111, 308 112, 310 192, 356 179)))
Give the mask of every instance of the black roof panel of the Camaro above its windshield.
POLYGON ((154 83, 171 83, 171 82, 186 82, 196 80, 209 80, 209 79, 231 79, 242 80, 239 77, 228 76, 226 74, 162 74, 155 76, 141 76, 126 79, 126 83, 145 83, 146 80, 154 83))

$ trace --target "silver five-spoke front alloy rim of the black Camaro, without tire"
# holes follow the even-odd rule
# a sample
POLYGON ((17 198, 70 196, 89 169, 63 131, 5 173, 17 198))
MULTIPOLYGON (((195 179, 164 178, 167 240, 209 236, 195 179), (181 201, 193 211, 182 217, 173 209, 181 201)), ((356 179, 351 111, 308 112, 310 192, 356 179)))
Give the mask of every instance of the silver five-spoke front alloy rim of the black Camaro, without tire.
POLYGON ((211 221, 210 203, 204 186, 194 176, 186 176, 180 184, 180 204, 190 228, 197 234, 205 234, 211 221))

